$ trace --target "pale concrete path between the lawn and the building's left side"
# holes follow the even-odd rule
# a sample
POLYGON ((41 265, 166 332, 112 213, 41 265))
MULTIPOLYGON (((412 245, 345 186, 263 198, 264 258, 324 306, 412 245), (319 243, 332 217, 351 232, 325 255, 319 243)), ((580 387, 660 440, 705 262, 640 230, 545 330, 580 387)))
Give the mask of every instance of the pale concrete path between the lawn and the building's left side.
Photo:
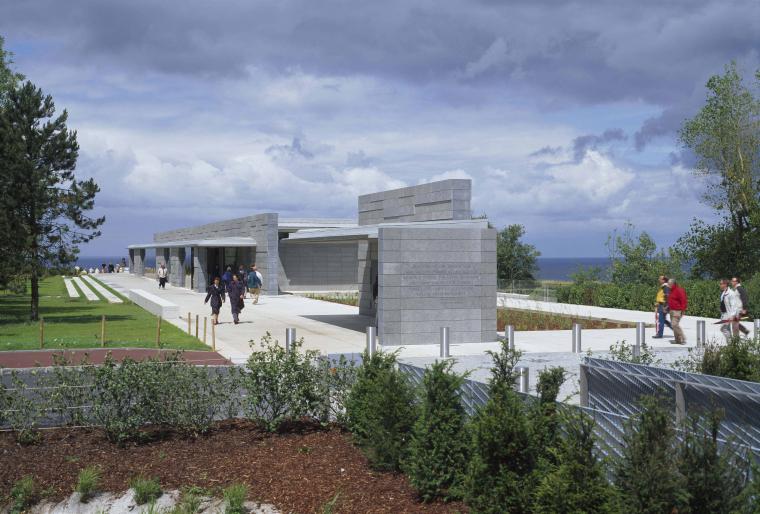
MULTIPOLYGON (((125 294, 129 289, 145 289, 179 305, 180 317, 169 323, 187 330, 187 313, 195 332, 195 315, 200 314, 200 337, 203 337, 203 317, 208 317, 207 344, 211 344, 211 308, 203 303, 205 295, 181 287, 159 289, 152 278, 127 273, 108 273, 98 277, 115 291, 125 294)), ((216 327, 216 349, 233 362, 243 362, 251 353, 250 342, 256 345, 268 332, 284 344, 285 329, 295 328, 296 337, 304 339, 304 348, 328 353, 361 352, 365 345, 365 327, 374 319, 359 315, 358 307, 322 302, 300 296, 261 296, 254 305, 246 299, 240 314, 240 324, 232 323, 229 303, 222 306, 216 327)))

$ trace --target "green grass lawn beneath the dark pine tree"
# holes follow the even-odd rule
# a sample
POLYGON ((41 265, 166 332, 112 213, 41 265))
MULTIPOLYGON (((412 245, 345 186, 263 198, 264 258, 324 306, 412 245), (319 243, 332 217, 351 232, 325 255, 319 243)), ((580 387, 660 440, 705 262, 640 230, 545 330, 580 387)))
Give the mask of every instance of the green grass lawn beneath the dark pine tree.
MULTIPOLYGON (((84 295, 69 298, 62 277, 42 280, 40 316, 45 320, 45 348, 100 347, 103 315, 106 316, 106 347, 155 348, 156 316, 121 298, 123 304, 110 304, 105 299, 88 302, 84 295)), ((39 349, 40 325, 29 321, 30 302, 31 291, 23 295, 0 292, 0 351, 39 349)), ((161 323, 161 346, 186 350, 210 349, 165 321, 161 323)))

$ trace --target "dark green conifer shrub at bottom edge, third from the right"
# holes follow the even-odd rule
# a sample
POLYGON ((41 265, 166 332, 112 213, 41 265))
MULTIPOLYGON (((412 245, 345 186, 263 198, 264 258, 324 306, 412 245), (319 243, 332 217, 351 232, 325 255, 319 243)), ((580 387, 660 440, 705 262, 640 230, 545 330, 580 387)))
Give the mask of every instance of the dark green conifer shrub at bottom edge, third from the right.
POLYGON ((609 483, 599 460, 594 438, 594 421, 581 412, 567 410, 564 437, 536 487, 536 514, 617 513, 617 490, 609 483))

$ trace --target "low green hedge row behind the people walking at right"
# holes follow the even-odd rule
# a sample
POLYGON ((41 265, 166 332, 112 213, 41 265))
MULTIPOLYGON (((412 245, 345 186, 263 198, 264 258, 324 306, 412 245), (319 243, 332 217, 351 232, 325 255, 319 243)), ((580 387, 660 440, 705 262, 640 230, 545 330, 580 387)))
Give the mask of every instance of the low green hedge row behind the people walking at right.
MULTIPOLYGON (((750 312, 760 306, 760 276, 742 282, 749 296, 750 312)), ((720 317, 720 288, 715 280, 686 280, 681 283, 689 299, 687 313, 706 318, 720 317)), ((557 301, 595 307, 653 311, 657 286, 579 281, 557 289, 557 301)), ((757 310, 760 313, 760 308, 757 310)))

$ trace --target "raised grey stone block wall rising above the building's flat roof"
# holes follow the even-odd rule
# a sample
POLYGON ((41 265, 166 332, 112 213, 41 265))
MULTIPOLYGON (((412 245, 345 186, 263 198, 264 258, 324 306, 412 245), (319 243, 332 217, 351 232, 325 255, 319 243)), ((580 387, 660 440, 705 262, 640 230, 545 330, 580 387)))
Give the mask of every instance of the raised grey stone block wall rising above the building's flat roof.
POLYGON ((359 197, 359 225, 468 220, 472 217, 469 179, 450 179, 359 197))

